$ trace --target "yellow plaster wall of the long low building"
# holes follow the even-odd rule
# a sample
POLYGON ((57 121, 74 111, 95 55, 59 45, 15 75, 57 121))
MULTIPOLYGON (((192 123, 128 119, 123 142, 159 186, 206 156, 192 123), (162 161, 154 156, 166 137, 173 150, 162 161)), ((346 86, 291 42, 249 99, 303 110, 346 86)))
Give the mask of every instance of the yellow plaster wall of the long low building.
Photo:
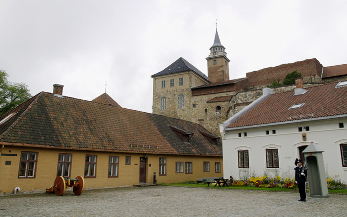
MULTIPOLYGON (((54 184, 58 169, 58 154, 72 154, 71 178, 84 177, 85 156, 97 155, 96 178, 85 178, 85 188, 102 188, 117 186, 132 186, 139 183, 140 157, 144 154, 129 154, 115 152, 60 150, 48 148, 31 148, 5 145, 1 153, 17 154, 17 156, 0 156, 0 192, 12 193, 15 187, 21 192, 45 191, 54 184), (35 178, 18 178, 20 155, 22 151, 38 152, 35 178), (108 177, 109 156, 119 156, 118 177, 108 177), (131 157, 131 164, 125 165, 125 156, 131 157), (11 165, 5 165, 11 161, 11 165)), ((222 157, 147 155, 146 182, 153 182, 156 173, 157 183, 173 183, 197 180, 201 177, 216 177, 223 175, 222 157), (167 158, 167 174, 159 175, 159 158, 167 158), (176 174, 175 162, 193 162, 192 174, 176 174), (203 162, 210 162, 210 172, 203 172, 203 162), (221 173, 215 173, 215 162, 221 163, 221 173), (149 165, 151 165, 149 167, 149 165)))

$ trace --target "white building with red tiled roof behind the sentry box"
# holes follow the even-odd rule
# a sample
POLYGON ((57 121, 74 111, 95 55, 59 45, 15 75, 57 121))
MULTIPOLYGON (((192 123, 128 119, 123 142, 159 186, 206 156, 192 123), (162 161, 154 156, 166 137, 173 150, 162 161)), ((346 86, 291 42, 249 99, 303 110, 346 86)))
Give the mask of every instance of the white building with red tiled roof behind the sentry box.
POLYGON ((325 171, 347 182, 347 81, 263 96, 220 125, 224 177, 294 177, 295 158, 311 142, 325 171))

